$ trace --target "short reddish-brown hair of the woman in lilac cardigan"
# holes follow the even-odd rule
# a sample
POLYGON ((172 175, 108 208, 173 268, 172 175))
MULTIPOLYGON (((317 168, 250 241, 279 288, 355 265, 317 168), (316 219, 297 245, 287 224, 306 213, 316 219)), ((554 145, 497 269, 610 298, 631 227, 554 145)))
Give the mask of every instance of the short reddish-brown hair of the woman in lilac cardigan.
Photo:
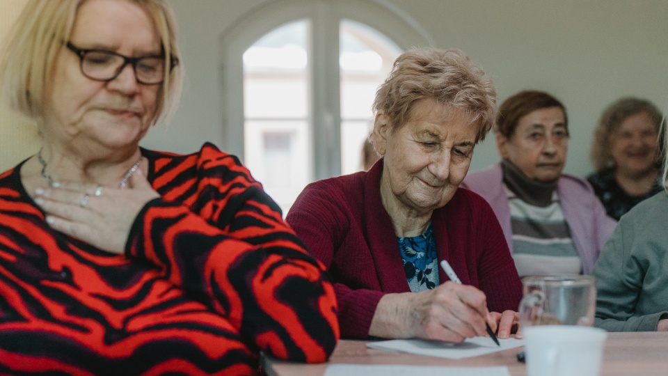
POLYGON ((533 90, 520 91, 503 101, 499 107, 495 131, 510 139, 523 116, 548 107, 559 107, 564 111, 564 127, 568 134, 568 116, 564 104, 548 93, 533 90))

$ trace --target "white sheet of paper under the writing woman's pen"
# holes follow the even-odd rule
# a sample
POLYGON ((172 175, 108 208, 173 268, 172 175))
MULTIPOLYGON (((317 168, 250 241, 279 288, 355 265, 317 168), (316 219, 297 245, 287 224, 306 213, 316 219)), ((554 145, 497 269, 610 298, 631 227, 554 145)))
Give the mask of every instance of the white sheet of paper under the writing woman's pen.
POLYGON ((501 346, 497 346, 489 337, 474 337, 466 338, 462 343, 408 339, 369 342, 367 346, 376 350, 406 352, 408 354, 429 355, 429 357, 447 359, 477 357, 478 355, 491 354, 493 352, 524 346, 524 341, 516 338, 500 339, 499 343, 501 346))

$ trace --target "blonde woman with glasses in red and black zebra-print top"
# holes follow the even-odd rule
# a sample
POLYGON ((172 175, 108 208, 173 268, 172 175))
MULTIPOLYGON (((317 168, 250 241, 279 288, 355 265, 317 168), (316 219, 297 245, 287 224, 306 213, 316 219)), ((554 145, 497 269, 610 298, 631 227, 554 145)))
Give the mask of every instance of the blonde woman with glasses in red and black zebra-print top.
POLYGON ((3 91, 43 146, 0 175, 0 370, 257 372, 325 361, 333 285, 235 157, 140 148, 180 91, 161 0, 34 0, 3 91))

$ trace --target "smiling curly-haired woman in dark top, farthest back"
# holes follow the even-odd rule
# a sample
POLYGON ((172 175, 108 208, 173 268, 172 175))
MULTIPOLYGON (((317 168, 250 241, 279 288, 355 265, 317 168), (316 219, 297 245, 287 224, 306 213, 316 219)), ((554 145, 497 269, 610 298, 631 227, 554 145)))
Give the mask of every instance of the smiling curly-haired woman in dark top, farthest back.
POLYGON ((591 143, 596 173, 587 180, 610 217, 619 220, 662 190, 657 140, 662 118, 651 102, 630 97, 603 111, 591 143))

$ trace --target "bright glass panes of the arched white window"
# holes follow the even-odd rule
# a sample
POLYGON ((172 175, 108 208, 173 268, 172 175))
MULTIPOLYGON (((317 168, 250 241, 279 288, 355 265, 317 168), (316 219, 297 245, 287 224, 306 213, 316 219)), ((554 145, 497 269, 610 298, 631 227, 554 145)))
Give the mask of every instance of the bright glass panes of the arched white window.
MULTIPOLYGON (((373 122, 376 88, 401 49, 365 24, 339 26, 341 171, 363 169, 363 143, 373 122)), ((291 22, 262 36, 244 52, 244 162, 287 213, 313 179, 313 152, 327 140, 312 140, 308 20, 291 22)), ((336 66, 336 65, 335 65, 336 66)))

